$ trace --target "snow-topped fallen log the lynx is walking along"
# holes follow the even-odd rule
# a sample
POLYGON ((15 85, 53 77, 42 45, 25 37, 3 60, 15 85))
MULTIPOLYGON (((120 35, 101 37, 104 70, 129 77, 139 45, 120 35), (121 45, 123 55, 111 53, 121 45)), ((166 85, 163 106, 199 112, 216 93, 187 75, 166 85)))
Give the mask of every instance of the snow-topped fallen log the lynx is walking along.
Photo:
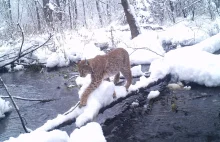
MULTIPOLYGON (((168 82, 170 76, 166 76, 163 79, 159 79, 154 82, 150 82, 148 86, 139 88, 138 90, 126 92, 123 86, 114 86, 112 82, 103 81, 102 84, 90 95, 87 105, 83 108, 76 107, 72 111, 68 111, 63 115, 59 114, 56 118, 48 120, 43 126, 36 129, 36 131, 51 131, 66 125, 70 125, 76 122, 77 127, 81 127, 92 121, 98 114, 103 113, 105 110, 113 107, 114 105, 124 101, 127 98, 133 97, 128 104, 132 104, 134 100, 138 100, 140 105, 146 104, 147 94, 151 91, 149 88, 158 85, 157 90, 162 91, 168 82), (113 93, 116 92, 116 99, 113 99, 113 93), (144 92, 145 95, 138 95, 140 92, 144 92)), ((86 78, 78 77, 77 83, 82 85, 79 90, 79 96, 83 93, 86 87, 90 83, 90 75, 86 78)), ((126 110, 129 105, 125 106, 122 111, 126 110)))

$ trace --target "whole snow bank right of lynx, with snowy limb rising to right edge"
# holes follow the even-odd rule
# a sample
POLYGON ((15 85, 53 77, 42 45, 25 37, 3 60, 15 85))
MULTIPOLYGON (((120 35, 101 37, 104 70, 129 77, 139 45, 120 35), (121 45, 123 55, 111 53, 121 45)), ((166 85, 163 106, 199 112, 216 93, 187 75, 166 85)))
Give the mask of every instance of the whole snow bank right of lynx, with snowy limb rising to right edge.
MULTIPOLYGON (((164 78, 167 74, 177 76, 179 80, 195 82, 207 87, 220 86, 220 55, 208 52, 219 50, 220 34, 217 34, 199 44, 171 50, 164 58, 151 63, 149 78, 144 76, 129 91, 146 87, 149 83, 164 78), (208 51, 208 52, 205 52, 208 51)), ((189 90, 190 87, 184 88, 189 90)))

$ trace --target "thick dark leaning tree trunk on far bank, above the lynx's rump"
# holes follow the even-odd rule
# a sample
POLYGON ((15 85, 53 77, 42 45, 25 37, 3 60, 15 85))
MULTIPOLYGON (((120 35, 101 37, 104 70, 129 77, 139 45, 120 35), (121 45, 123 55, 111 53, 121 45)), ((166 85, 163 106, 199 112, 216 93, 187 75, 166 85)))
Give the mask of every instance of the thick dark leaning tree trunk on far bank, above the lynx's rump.
POLYGON ((138 21, 135 19, 135 14, 133 12, 133 9, 131 9, 133 7, 131 7, 128 0, 121 0, 121 3, 125 12, 128 25, 131 30, 131 37, 133 39, 141 33, 140 27, 138 25, 138 21))

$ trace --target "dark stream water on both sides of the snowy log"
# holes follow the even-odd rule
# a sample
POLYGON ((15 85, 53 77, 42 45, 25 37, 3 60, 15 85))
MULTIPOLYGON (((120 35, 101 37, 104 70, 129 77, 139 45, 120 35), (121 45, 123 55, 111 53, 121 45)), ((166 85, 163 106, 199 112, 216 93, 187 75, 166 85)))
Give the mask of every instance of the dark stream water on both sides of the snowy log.
MULTIPOLYGON (((78 102, 78 88, 72 68, 51 72, 20 71, 1 74, 14 96, 37 99, 57 99, 51 102, 15 100, 27 127, 36 129, 57 114, 63 114, 78 102)), ((0 95, 7 95, 0 88, 0 95)), ((138 95, 147 95, 145 91, 138 95)), ((108 142, 200 141, 220 140, 220 87, 207 88, 192 85, 191 90, 165 89, 151 102, 151 110, 145 105, 132 106, 135 97, 127 98, 99 114, 108 142), (126 109, 124 109, 126 108, 126 109)), ((9 100, 9 99, 6 99, 9 100)), ((71 133, 75 124, 60 128, 71 133)), ((15 110, 0 120, 0 141, 24 133, 15 110)))

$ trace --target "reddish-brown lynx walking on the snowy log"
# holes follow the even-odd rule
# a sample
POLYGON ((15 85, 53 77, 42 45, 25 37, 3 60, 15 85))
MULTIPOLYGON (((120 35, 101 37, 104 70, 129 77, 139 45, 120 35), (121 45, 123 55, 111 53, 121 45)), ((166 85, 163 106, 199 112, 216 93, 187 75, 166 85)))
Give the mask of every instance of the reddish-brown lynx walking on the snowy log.
MULTIPOLYGON (((77 66, 81 77, 91 74, 91 83, 82 94, 80 107, 87 104, 89 95, 99 87, 104 79, 109 80, 109 77, 115 75, 114 84, 116 84, 121 72, 126 79, 126 90, 132 82, 129 55, 123 48, 116 48, 105 55, 97 55, 92 59, 79 61, 77 66)), ((115 93, 113 97, 115 97, 115 93)))

